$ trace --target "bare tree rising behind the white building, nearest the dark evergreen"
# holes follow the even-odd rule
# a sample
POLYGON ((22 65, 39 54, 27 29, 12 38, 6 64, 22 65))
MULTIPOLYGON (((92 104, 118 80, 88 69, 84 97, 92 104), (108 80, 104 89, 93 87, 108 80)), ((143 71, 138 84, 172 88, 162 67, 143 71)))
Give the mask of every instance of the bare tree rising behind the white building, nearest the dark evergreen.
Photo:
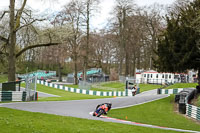
MULTIPOLYGON (((148 68, 153 69, 153 59, 156 59, 155 51, 157 49, 158 36, 161 33, 161 30, 164 27, 162 23, 162 13, 163 6, 159 4, 154 4, 149 7, 144 7, 142 11, 139 12, 140 16, 143 16, 143 25, 146 28, 146 60, 149 64, 148 68), (142 14, 140 14, 142 12, 142 14)), ((145 50, 145 51, 146 51, 145 50)))

